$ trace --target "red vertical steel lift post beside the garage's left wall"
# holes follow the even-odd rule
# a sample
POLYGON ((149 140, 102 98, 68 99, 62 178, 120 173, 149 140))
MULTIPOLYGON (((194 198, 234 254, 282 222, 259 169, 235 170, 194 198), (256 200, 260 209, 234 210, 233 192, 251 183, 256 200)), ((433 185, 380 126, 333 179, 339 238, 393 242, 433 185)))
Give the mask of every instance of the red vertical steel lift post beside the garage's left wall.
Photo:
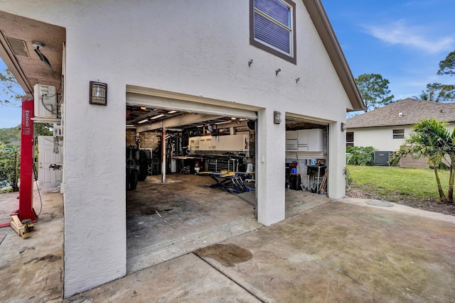
POLYGON ((36 221, 33 210, 33 99, 22 98, 21 184, 19 186, 19 219, 36 221))

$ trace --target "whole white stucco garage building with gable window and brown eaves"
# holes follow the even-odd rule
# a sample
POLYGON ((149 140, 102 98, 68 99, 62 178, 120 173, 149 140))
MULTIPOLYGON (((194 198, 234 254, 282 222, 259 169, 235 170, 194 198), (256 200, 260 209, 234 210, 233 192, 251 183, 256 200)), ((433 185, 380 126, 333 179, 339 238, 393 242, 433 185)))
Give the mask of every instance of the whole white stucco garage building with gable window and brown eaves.
POLYGON ((62 97, 50 121, 63 132, 65 297, 127 272, 127 128, 251 121, 264 225, 285 218, 286 131, 320 128, 320 149, 299 156, 323 158, 328 197, 345 196, 346 111, 365 106, 320 0, 15 0, 0 16, 0 55, 26 94, 44 84, 62 97), (106 106, 89 103, 92 81, 107 84, 106 106))

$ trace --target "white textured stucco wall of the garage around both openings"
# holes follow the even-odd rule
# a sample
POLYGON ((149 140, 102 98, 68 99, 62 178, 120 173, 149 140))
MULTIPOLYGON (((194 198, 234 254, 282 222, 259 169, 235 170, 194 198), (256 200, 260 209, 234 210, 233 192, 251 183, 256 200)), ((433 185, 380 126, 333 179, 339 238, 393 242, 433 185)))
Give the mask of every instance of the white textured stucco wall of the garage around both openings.
POLYGON ((344 196, 346 133, 340 123, 351 105, 303 2, 295 2, 296 65, 249 44, 249 1, 0 4, 3 11, 66 28, 65 297, 126 274, 128 84, 260 108, 257 187, 262 224, 284 219, 285 126, 273 124, 273 111, 329 123, 328 195, 344 196), (254 62, 248 67, 250 59, 254 62), (276 76, 278 68, 282 72, 276 76), (107 106, 88 104, 90 80, 108 84, 107 106))

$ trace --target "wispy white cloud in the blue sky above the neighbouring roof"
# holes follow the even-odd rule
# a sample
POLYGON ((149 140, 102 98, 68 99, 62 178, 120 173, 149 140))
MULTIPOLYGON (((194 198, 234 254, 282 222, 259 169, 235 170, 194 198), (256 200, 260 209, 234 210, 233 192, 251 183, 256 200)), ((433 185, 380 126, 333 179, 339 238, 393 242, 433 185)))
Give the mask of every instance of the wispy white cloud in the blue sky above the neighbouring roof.
POLYGON ((405 45, 423 50, 426 53, 440 53, 453 50, 455 38, 445 36, 434 38, 431 33, 419 26, 407 26, 404 21, 396 21, 385 25, 363 26, 367 33, 391 45, 405 45))

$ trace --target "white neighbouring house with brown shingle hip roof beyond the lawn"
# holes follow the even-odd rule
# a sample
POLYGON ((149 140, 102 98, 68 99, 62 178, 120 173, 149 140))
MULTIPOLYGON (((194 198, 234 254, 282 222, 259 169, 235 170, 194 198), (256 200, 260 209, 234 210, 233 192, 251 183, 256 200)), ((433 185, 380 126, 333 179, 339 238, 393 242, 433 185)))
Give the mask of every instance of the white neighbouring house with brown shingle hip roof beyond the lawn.
MULTIPOLYGON (((373 146, 378 151, 399 150, 405 143, 414 124, 434 118, 455 126, 455 103, 437 103, 417 99, 404 99, 346 121, 347 146, 373 146)), ((413 161, 406 157, 402 167, 428 167, 427 160, 413 161)))

